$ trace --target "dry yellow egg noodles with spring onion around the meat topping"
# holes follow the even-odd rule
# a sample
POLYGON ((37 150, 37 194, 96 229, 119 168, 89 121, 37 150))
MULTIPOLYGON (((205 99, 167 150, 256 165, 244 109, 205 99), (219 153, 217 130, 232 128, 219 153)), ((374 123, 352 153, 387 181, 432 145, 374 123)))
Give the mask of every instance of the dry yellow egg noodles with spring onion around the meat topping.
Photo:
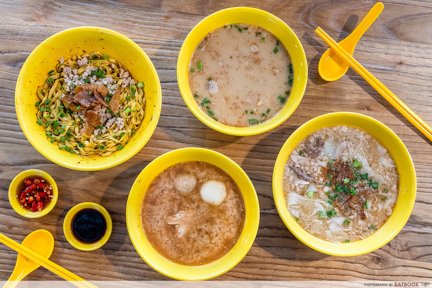
MULTIPOLYGON (((132 80, 130 85, 122 88, 122 84, 127 79, 121 77, 121 70, 124 70, 124 73, 127 71, 121 63, 108 58, 107 55, 102 55, 99 51, 85 53, 80 56, 75 55, 69 60, 61 60, 60 63, 57 63, 54 70, 48 73, 48 79, 44 85, 38 88, 37 94, 40 101, 35 104, 39 108, 36 114, 38 117, 36 122, 44 128, 48 140, 53 145, 57 145, 59 149, 64 149, 71 154, 76 153, 84 157, 108 156, 117 150, 123 149, 143 121, 146 97, 143 92, 143 82, 137 83, 132 80), (80 66, 78 61, 84 57, 88 59, 88 63, 80 66), (116 121, 111 127, 106 127, 107 130, 103 133, 100 130, 105 124, 97 127, 98 129, 95 131, 100 131, 98 135, 92 133, 89 136, 79 133, 85 124, 84 120, 81 119, 83 116, 67 109, 61 100, 62 95, 73 94, 75 86, 72 84, 71 92, 67 92, 67 85, 70 85, 70 83, 66 82, 66 79, 69 80, 69 75, 64 72, 64 68, 67 66, 70 66, 72 70, 77 69, 78 80, 86 77, 83 74, 87 66, 99 67, 103 71, 104 76, 97 76, 95 81, 100 80, 102 82, 104 78, 112 77, 112 83, 116 85, 113 88, 121 89, 120 104, 117 113, 109 109, 107 109, 107 112, 113 118, 123 118, 123 127, 119 126, 116 121)), ((99 72, 98 75, 101 75, 101 73, 99 72)), ((86 81, 89 82, 89 80, 86 81)), ((108 96, 112 97, 110 94, 108 96)), ((105 100, 109 103, 110 98, 105 98, 105 100)), ((101 109, 105 109, 104 106, 101 109)))

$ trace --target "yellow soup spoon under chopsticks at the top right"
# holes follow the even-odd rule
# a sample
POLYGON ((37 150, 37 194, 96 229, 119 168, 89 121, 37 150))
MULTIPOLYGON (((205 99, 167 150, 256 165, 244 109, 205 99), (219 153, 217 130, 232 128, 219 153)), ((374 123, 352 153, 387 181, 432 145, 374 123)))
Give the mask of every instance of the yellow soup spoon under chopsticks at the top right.
MULTIPOLYGON (((360 24, 349 34, 345 39, 339 42, 339 45, 345 49, 350 55, 353 55, 354 48, 359 42, 362 35, 368 30, 369 26, 377 19, 384 5, 381 2, 376 3, 372 9, 366 14, 360 24)), ((322 79, 326 81, 334 81, 339 79, 346 73, 349 64, 339 57, 332 48, 328 48, 321 56, 318 63, 318 72, 322 79)))

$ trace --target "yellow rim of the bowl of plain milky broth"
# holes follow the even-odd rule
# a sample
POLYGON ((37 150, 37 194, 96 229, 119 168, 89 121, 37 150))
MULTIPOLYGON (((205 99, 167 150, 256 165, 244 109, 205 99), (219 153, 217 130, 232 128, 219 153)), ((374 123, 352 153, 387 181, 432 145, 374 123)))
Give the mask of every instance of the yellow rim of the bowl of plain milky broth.
MULTIPOLYGON (((264 26, 262 26, 262 27, 266 28, 264 26)), ((211 31, 209 31, 209 33, 210 32, 211 31)), ((265 10, 258 9, 258 8, 247 7, 247 6, 231 7, 231 8, 226 8, 226 9, 216 11, 216 12, 206 16, 204 19, 202 19, 200 22, 198 22, 197 25, 194 26, 194 28, 192 28, 191 32, 189 32, 189 34, 184 39, 183 44, 181 45, 180 51, 178 53, 178 59, 177 59, 177 68, 176 69, 177 69, 178 88, 180 89, 180 93, 181 93, 181 96, 182 96, 184 102, 186 103, 187 107, 192 112, 192 114, 194 114, 195 117, 197 117, 202 123, 204 123, 208 127, 212 128, 213 130, 216 130, 218 132, 225 133, 228 135, 251 136, 251 135, 264 133, 264 132, 267 132, 269 130, 272 130, 273 128, 276 128, 277 126, 279 126, 280 124, 285 122, 294 113, 294 111, 297 109, 300 102, 302 101, 303 95, 305 94, 306 85, 308 82, 307 81, 308 80, 308 64, 307 63, 308 62, 306 59, 306 54, 305 54, 305 50, 303 49, 302 43, 300 42, 300 40, 297 37, 297 35, 295 34, 295 32, 282 19, 273 15, 270 12, 267 12, 265 10), (214 17, 217 14, 227 13, 227 12, 231 12, 231 11, 237 11, 238 13, 251 13, 251 12, 260 13, 260 14, 266 15, 269 19, 273 19, 274 21, 278 21, 280 23, 280 25, 282 25, 283 28, 286 29, 287 32, 290 32, 293 35, 293 38, 297 42, 296 44, 299 46, 300 51, 302 51, 301 62, 305 64, 304 65, 305 80, 304 80, 304 85, 302 87, 299 87, 299 94, 301 94, 301 96, 292 104, 289 113, 286 113, 283 117, 280 117, 279 120, 277 120, 273 123, 269 123, 269 121, 267 120, 267 121, 264 121, 263 123, 260 123, 258 125, 248 126, 248 127, 233 127, 233 126, 219 123, 219 122, 213 120, 212 118, 208 117, 206 114, 201 113, 202 110, 198 107, 196 101, 194 100, 194 98, 192 96, 188 80, 183 79, 181 77, 181 68, 180 68, 181 58, 183 55, 183 51, 184 51, 186 45, 188 44, 189 39, 192 37, 191 35, 193 35, 194 33, 196 33, 200 29, 200 26, 203 24, 203 22, 206 21, 206 19, 214 17)), ((283 106, 283 108, 285 107, 285 105, 283 106)), ((280 113, 280 111, 278 112, 278 114, 279 113, 280 113)), ((277 117, 278 114, 274 115, 270 119, 277 117)))

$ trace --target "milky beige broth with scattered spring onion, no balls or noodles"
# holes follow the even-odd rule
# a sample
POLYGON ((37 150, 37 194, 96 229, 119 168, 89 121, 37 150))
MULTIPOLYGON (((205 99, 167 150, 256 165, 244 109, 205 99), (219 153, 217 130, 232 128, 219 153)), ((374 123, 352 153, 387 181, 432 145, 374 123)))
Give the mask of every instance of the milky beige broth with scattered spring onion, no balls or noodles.
POLYGON ((248 127, 280 111, 291 92, 292 73, 288 51, 273 34, 260 26, 233 24, 198 44, 189 64, 189 85, 207 115, 248 127))

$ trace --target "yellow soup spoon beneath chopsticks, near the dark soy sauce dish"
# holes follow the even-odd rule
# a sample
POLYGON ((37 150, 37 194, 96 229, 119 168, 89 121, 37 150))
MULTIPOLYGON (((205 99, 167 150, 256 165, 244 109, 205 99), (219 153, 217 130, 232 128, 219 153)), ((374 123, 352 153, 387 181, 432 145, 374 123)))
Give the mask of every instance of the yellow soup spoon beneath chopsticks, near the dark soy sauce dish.
MULTIPOLYGON (((22 245, 48 259, 54 250, 54 237, 47 230, 36 230, 25 237, 22 241, 22 245)), ((12 275, 10 275, 8 282, 6 282, 3 288, 15 287, 18 285, 19 281, 40 266, 41 265, 35 261, 18 253, 15 269, 13 269, 12 275)))

